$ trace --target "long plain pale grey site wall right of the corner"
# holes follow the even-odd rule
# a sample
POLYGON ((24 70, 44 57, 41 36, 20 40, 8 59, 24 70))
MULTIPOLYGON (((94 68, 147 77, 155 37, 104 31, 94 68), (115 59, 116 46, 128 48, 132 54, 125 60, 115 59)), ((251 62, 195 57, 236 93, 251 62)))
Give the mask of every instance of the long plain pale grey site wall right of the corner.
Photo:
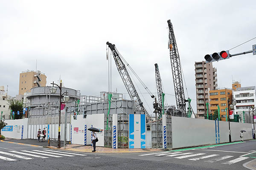
MULTIPOLYGON (((251 124, 230 122, 232 142, 241 140, 240 130, 246 130, 243 133, 244 140, 253 139, 251 124)), ((217 143, 218 139, 220 143, 229 142, 228 122, 219 121, 218 137, 218 121, 216 121, 216 131, 214 120, 172 116, 172 148, 216 144, 216 139, 217 143)))

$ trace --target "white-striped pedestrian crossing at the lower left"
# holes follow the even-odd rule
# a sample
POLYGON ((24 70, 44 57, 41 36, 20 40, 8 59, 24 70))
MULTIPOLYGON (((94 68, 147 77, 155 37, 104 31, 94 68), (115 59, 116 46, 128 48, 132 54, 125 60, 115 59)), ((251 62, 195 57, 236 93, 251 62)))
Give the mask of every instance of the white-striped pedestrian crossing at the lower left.
POLYGON ((62 152, 55 150, 9 150, 9 151, 0 151, 0 159, 5 161, 17 161, 18 159, 31 160, 35 158, 47 159, 50 157, 54 158, 62 158, 62 157, 73 157, 73 156, 87 156, 80 153, 70 153, 70 152, 62 152))

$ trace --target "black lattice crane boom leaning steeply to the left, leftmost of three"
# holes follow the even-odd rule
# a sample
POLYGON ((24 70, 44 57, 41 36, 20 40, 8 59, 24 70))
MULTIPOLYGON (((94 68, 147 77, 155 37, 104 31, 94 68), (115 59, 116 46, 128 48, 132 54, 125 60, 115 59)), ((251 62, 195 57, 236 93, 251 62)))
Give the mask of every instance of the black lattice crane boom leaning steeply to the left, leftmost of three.
MULTIPOLYGON (((125 64, 123 63, 123 61, 121 59, 121 57, 122 57, 121 54, 119 54, 119 52, 117 51, 116 46, 114 44, 107 42, 107 45, 112 51, 117 70, 122 78, 122 81, 125 84, 125 88, 128 91, 128 94, 131 97, 131 99, 134 100, 134 102, 135 102, 135 109, 144 111, 144 113, 148 116, 148 118, 150 120, 152 120, 151 116, 148 114, 145 107, 143 106, 143 102, 141 102, 140 96, 137 93, 133 82, 131 81, 131 77, 125 67, 125 64)), ((154 95, 152 94, 151 97, 154 98, 154 95)))

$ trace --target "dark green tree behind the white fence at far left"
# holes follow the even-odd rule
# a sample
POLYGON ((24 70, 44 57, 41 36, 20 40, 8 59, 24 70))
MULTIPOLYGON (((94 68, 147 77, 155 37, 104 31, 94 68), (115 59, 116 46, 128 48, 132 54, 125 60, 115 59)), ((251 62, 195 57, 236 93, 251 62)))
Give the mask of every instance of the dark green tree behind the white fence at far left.
MULTIPOLYGON (((23 117, 23 101, 17 99, 8 99, 10 109, 15 112, 14 119, 22 119, 23 117), (18 115, 17 111, 20 111, 18 115)), ((11 115, 12 116, 12 115, 11 115)))

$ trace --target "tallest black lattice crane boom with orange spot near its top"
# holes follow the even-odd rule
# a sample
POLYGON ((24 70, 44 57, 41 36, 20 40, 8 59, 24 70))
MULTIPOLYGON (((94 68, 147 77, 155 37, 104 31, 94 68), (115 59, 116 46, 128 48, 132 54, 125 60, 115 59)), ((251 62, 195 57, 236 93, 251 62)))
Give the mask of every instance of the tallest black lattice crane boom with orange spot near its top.
POLYGON ((170 20, 167 21, 169 26, 169 49, 170 49, 170 58, 172 65, 172 77, 174 83, 175 97, 177 109, 181 110, 182 116, 186 117, 186 103, 185 103, 185 95, 183 89, 182 75, 181 75, 181 67, 180 67, 180 56, 174 36, 174 31, 172 27, 172 23, 170 20))

